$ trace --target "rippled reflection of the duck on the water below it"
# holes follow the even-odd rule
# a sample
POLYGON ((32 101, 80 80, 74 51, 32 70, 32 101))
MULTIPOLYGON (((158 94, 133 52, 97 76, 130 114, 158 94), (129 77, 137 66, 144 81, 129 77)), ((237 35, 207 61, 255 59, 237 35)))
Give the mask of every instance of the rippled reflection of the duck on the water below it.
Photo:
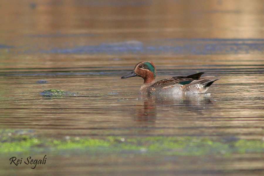
POLYGON ((141 95, 144 101, 143 105, 137 107, 135 121, 144 126, 152 126, 157 120, 157 111, 170 111, 175 117, 180 117, 180 114, 203 114, 204 109, 213 106, 209 97, 210 94, 141 95))

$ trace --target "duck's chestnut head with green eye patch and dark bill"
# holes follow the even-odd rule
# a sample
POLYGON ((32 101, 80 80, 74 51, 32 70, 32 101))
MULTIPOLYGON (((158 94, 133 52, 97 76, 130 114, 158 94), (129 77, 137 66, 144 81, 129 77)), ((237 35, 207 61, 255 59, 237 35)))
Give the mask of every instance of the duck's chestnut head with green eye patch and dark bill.
POLYGON ((134 76, 142 77, 144 79, 144 84, 153 83, 157 76, 156 67, 152 62, 139 62, 131 73, 121 78, 130 78, 134 76))

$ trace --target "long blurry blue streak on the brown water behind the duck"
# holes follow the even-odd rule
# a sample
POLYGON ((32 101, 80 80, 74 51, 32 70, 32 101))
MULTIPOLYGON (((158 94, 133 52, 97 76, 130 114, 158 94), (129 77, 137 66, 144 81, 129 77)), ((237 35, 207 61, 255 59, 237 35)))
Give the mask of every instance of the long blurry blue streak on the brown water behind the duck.
POLYGON ((141 41, 130 40, 119 43, 102 43, 100 45, 77 46, 75 48, 52 48, 50 50, 40 49, 40 53, 62 53, 62 54, 126 54, 126 53, 173 53, 173 54, 235 54, 264 51, 264 39, 163 39, 150 42, 147 45, 141 41), (156 44, 155 44, 156 43, 156 44))

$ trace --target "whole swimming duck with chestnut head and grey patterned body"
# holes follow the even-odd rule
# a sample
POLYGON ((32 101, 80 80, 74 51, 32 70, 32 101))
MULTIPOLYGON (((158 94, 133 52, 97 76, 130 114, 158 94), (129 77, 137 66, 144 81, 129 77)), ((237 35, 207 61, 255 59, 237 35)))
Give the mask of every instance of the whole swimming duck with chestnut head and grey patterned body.
POLYGON ((153 62, 143 61, 136 64, 134 70, 121 78, 142 77, 144 83, 139 94, 172 95, 172 94, 203 94, 218 79, 215 76, 201 77, 204 72, 188 76, 175 76, 156 81, 157 71, 153 62))

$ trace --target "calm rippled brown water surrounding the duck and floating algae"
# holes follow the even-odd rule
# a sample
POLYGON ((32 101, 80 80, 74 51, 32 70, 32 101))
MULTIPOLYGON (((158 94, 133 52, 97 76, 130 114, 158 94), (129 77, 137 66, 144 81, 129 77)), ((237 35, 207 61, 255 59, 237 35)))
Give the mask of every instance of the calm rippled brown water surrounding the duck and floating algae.
MULTIPOLYGON (((263 139, 263 1, 0 4, 2 129, 32 129, 55 138, 263 139), (120 78, 140 61, 154 62, 158 79, 196 72, 221 79, 207 94, 141 97, 142 78, 120 78), (43 97, 45 89, 78 94, 43 97)), ((262 175, 264 169, 263 154, 254 153, 231 158, 91 156, 54 156, 38 170, 1 161, 2 173, 262 175)))

